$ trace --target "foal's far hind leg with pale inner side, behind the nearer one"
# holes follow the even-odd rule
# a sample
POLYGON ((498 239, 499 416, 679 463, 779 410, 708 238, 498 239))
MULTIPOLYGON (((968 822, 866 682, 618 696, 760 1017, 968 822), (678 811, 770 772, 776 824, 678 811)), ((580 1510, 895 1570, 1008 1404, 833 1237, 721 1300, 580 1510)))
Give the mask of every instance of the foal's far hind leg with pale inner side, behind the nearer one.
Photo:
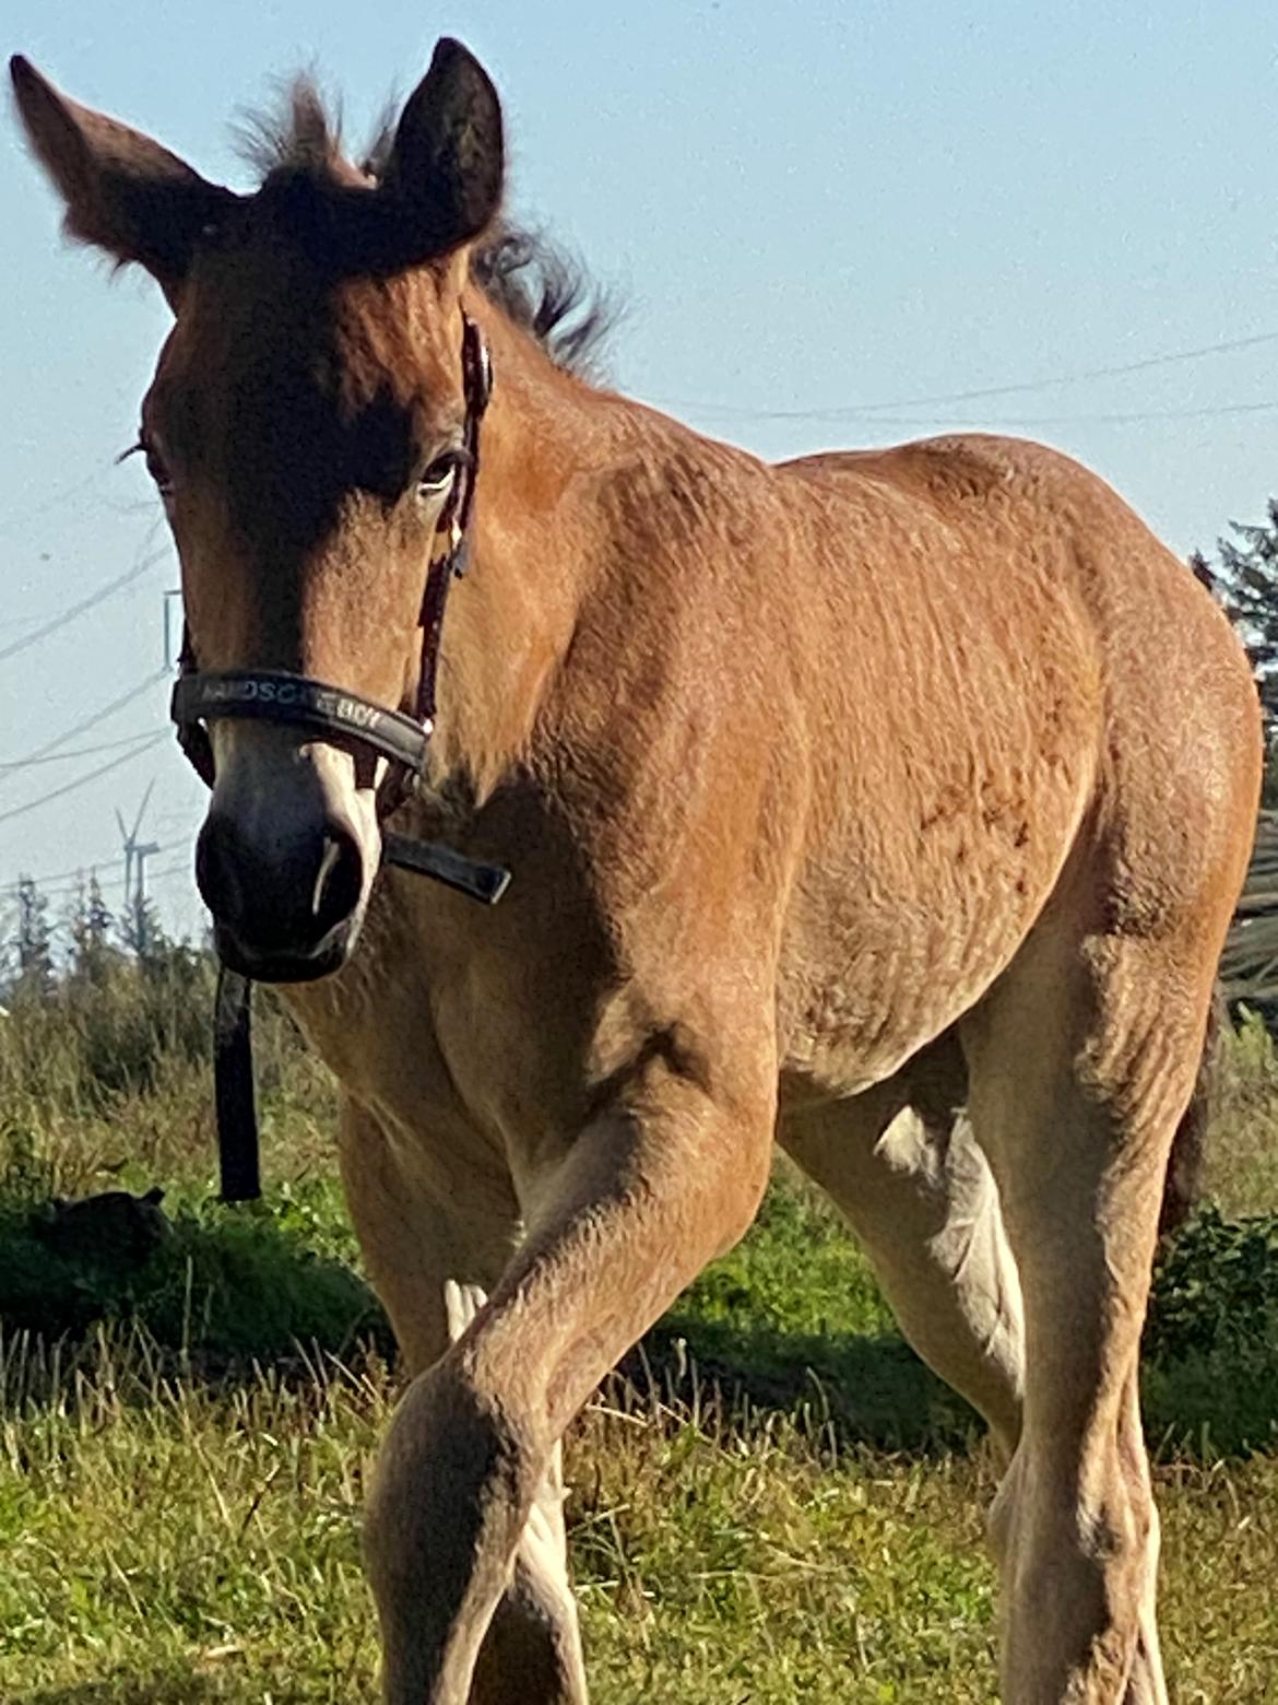
POLYGON ((988 1161, 954 1112, 966 1084, 951 1047, 787 1118, 779 1139, 847 1217, 908 1342, 1007 1458, 1021 1430, 1021 1286, 988 1161))

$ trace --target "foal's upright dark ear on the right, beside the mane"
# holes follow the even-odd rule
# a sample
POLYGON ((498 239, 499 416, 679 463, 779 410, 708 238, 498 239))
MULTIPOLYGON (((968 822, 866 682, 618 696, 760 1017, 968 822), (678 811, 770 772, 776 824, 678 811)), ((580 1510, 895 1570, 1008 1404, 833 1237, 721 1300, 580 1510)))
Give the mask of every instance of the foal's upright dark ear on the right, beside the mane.
POLYGON ((477 237, 501 203, 501 102, 487 72, 445 36, 409 95, 382 172, 400 264, 446 254, 477 237))

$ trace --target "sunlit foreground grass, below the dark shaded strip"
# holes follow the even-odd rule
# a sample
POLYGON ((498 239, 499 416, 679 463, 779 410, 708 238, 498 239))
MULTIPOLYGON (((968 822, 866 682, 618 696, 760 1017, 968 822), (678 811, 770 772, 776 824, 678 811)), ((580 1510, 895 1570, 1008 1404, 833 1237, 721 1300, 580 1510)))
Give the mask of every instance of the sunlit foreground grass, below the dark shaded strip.
MULTIPOLYGON (((233 1388, 143 1340, 92 1374, 3 1371, 0 1696, 9 1705, 373 1698, 361 1485, 394 1398, 377 1361, 233 1388), (27 1403, 12 1396, 26 1388, 27 1403)), ((993 1696, 980 1459, 838 1448, 820 1420, 607 1393, 569 1453, 600 1705, 993 1696)), ((1166 1466, 1179 1700, 1264 1700, 1278 1664, 1278 1465, 1166 1466)))

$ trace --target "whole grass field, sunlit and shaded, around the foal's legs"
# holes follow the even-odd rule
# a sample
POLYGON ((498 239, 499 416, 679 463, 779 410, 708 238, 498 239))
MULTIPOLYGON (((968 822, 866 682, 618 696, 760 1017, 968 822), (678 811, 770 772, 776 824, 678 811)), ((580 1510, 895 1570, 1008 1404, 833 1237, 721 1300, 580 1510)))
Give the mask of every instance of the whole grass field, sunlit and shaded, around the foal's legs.
MULTIPOLYGON (((196 1062, 102 1096, 60 1079, 49 1035, 22 1047, 0 1052, 0 1700, 371 1702, 361 1483, 397 1376, 329 1086, 268 1035, 269 1199, 233 1211, 210 1200, 196 1062), (143 1269, 39 1234, 55 1190, 155 1182, 174 1234, 143 1269), (34 1332, 55 1318, 66 1337, 34 1332)), ((1278 1676, 1276 1125, 1249 1026, 1210 1149, 1225 1217, 1169 1253, 1150 1328, 1179 1702, 1268 1700, 1278 1676)), ((792 1178, 600 1393, 567 1466, 600 1705, 995 1696, 978 1429, 792 1178)))

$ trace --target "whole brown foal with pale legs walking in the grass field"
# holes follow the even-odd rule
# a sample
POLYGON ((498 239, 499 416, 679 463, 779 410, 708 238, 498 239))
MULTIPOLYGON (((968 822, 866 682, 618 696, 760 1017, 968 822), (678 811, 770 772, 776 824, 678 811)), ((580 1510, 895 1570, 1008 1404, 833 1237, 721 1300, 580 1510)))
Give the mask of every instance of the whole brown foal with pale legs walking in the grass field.
POLYGON ((1210 597, 1038 445, 769 467, 564 370, 455 43, 371 167, 302 95, 247 196, 14 77, 72 234, 174 309, 141 442, 201 668, 412 708, 463 326, 492 351, 426 786, 220 718, 198 854, 341 1081, 414 1373, 368 1509, 385 1698, 584 1700, 559 1439, 775 1137, 1009 1454, 1004 1696, 1166 1700, 1138 1338, 1259 776, 1210 597), (508 900, 382 868, 392 813, 508 900))

